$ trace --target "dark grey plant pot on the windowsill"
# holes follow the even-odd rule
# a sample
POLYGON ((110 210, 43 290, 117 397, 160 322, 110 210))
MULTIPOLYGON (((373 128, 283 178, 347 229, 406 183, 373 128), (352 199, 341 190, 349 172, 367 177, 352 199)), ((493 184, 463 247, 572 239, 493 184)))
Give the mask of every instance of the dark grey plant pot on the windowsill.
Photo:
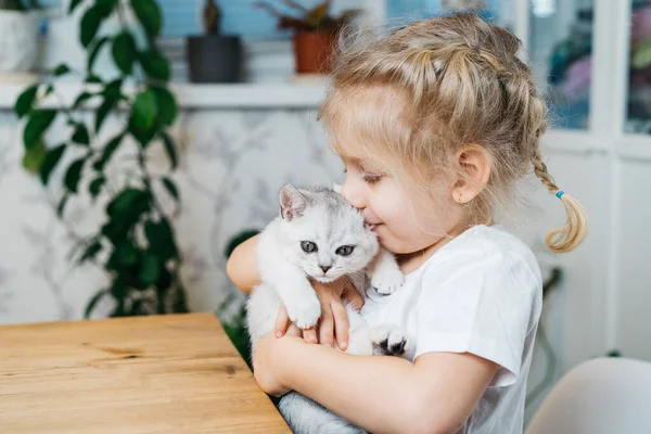
POLYGON ((242 75, 239 36, 189 36, 186 46, 190 81, 237 82, 242 75))

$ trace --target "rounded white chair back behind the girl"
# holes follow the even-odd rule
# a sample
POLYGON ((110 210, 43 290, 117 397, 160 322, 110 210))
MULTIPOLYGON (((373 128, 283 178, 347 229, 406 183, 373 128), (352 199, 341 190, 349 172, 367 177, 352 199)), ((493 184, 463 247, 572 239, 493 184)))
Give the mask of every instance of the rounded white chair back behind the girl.
POLYGON ((525 434, 650 434, 651 363, 598 358, 567 372, 525 434))

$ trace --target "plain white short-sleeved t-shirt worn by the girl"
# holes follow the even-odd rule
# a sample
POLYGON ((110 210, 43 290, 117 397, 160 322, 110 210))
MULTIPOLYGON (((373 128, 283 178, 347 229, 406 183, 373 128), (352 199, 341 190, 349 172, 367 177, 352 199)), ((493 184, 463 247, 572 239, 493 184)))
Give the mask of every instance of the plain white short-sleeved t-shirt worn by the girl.
POLYGON ((526 379, 542 306, 532 251, 499 227, 476 226, 448 242, 388 296, 369 294, 370 326, 396 324, 430 352, 472 353, 499 365, 459 433, 521 434, 526 379))

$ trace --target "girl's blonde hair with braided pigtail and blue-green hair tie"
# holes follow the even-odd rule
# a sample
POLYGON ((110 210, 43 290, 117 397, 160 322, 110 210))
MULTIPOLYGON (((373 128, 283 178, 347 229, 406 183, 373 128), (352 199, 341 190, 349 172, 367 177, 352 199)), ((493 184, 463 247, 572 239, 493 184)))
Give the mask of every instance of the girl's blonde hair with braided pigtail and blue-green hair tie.
MULTIPOLYGON (((569 252, 584 239, 586 217, 576 200, 559 191, 542 162, 547 104, 518 59, 520 46, 511 33, 471 13, 413 22, 370 40, 358 35, 337 58, 319 117, 335 148, 337 135, 354 128, 368 155, 382 143, 397 170, 420 183, 450 169, 460 150, 481 146, 492 170, 486 188, 468 204, 470 224, 490 220, 533 166, 567 214, 547 245, 569 252), (381 105, 383 113, 363 104, 381 105), (354 122, 350 110, 357 111, 354 122)), ((455 171, 462 175, 458 167, 455 171)))

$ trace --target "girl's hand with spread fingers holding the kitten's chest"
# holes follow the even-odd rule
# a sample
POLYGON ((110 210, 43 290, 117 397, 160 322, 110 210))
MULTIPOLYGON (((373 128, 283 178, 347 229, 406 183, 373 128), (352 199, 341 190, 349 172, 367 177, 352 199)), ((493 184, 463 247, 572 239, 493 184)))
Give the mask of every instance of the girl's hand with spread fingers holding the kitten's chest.
MULTIPOLYGON (((312 281, 312 288, 321 302, 321 319, 319 320, 319 339, 311 328, 303 330, 303 337, 308 343, 321 343, 333 346, 334 337, 341 349, 348 347, 348 314, 344 303, 350 303, 355 309, 361 309, 363 298, 346 280, 339 279, 332 283, 312 281)), ((275 334, 282 336, 290 326, 290 318, 284 306, 281 306, 276 320, 275 334)))

